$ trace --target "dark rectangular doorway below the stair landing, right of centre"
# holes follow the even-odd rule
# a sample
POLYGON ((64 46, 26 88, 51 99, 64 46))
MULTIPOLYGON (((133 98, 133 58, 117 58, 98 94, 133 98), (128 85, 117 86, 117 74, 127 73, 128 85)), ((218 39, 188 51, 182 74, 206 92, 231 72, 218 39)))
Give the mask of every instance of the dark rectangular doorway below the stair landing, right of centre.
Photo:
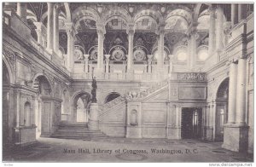
POLYGON ((183 139, 201 138, 202 108, 184 107, 182 109, 182 131, 183 139))

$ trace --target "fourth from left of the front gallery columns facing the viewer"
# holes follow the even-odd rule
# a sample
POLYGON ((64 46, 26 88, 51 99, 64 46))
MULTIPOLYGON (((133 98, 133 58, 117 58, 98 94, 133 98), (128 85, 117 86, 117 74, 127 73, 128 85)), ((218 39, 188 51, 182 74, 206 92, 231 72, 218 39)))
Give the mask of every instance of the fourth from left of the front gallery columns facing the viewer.
POLYGON ((164 49, 165 49, 165 26, 160 25, 157 34, 159 35, 158 50, 157 50, 157 52, 158 52, 157 68, 158 68, 158 72, 163 74, 163 71, 164 71, 164 49))

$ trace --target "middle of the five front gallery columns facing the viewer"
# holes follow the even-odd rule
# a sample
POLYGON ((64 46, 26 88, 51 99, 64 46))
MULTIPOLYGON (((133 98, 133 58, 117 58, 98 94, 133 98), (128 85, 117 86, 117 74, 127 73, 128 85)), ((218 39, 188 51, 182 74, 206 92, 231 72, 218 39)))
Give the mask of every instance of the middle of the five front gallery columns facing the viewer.
POLYGON ((133 38, 134 38, 134 26, 130 25, 127 29, 128 34, 128 57, 127 57, 127 72, 132 71, 132 64, 133 64, 133 38))

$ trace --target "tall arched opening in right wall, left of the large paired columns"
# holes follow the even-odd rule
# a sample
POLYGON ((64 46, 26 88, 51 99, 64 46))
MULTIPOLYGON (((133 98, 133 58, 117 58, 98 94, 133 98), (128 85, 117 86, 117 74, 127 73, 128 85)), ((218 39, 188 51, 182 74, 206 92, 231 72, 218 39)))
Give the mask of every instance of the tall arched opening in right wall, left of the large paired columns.
POLYGON ((228 121, 229 78, 220 83, 216 98, 215 140, 224 140, 224 124, 228 121))

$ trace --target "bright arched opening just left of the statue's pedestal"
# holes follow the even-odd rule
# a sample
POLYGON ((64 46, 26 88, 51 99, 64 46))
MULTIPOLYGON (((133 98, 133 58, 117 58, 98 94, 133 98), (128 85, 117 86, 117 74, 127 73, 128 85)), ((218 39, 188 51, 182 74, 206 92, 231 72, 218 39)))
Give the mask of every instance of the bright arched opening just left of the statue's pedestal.
POLYGON ((88 122, 90 101, 89 93, 76 95, 73 100, 73 122, 88 122))

